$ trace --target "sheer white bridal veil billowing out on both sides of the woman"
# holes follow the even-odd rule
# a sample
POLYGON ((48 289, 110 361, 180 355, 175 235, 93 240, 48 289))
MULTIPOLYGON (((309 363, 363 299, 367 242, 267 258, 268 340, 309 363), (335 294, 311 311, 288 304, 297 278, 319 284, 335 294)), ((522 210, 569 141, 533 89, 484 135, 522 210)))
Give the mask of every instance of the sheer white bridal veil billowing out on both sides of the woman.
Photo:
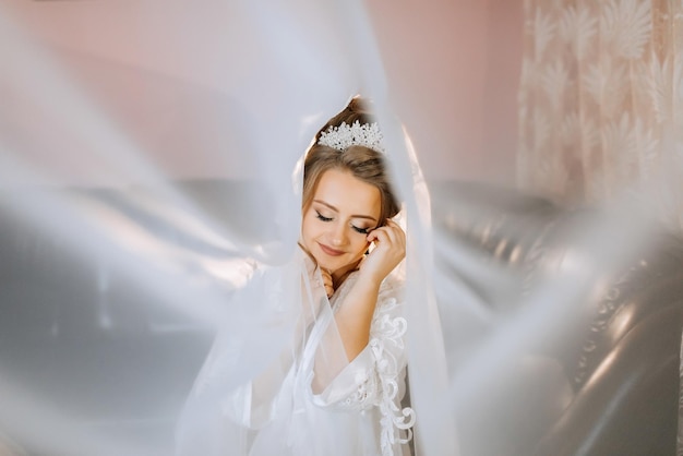
MULTIPOLYGON (((0 454, 172 454, 216 334, 229 362, 204 400, 268 365, 293 324, 273 296, 299 291, 254 265, 296 254, 299 159, 355 94, 374 101, 405 203, 416 454, 458 454, 477 425, 463 417, 498 413, 515 367, 552 377, 522 353, 558 343, 594 264, 559 260, 508 321, 435 267, 438 243, 493 291, 511 280, 431 226, 416 160, 430 156, 395 116, 407 97, 360 1, 26 3, 0 3, 0 454)), ((604 257, 635 228, 610 232, 604 257)))

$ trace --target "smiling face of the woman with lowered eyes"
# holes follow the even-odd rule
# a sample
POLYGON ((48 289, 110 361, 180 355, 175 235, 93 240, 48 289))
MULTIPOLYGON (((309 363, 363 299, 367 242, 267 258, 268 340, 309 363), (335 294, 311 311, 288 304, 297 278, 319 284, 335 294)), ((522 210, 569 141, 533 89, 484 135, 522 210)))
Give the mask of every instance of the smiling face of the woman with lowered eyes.
POLYGON ((350 172, 329 169, 303 208, 301 241, 320 267, 340 276, 368 250, 368 233, 380 224, 380 190, 350 172))

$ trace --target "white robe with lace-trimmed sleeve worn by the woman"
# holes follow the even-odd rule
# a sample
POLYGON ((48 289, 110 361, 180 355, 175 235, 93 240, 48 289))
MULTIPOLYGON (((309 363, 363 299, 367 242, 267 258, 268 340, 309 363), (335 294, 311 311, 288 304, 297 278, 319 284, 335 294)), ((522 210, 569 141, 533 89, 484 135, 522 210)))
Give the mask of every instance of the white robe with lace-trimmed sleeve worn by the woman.
POLYGON ((344 305, 358 273, 351 273, 327 300, 320 271, 305 255, 300 255, 298 261, 302 266, 304 304, 295 344, 283 350, 274 367, 232 395, 224 408, 233 420, 250 429, 240 439, 241 449, 236 453, 250 456, 409 454, 415 416, 410 408, 400 406, 405 393, 407 332, 402 316, 403 280, 390 276, 383 281, 370 343, 348 362, 334 313, 344 305), (278 371, 284 376, 274 374, 278 371), (249 410, 247 419, 244 410, 249 410))

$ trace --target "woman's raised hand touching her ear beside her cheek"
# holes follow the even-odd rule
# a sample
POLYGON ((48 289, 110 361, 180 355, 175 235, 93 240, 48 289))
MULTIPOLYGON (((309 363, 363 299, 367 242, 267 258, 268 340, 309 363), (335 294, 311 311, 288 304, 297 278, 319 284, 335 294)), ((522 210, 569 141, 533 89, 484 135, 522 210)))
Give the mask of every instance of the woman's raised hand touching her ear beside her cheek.
POLYGON ((406 256, 406 233, 398 224, 387 220, 368 235, 368 242, 374 242, 374 249, 361 263, 360 274, 379 284, 406 256))

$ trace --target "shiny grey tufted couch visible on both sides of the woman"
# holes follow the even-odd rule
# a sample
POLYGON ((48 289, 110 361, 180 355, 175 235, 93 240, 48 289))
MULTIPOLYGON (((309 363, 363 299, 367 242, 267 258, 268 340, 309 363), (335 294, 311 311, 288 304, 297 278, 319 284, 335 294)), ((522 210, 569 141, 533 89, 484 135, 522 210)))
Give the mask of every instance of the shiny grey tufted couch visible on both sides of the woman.
MULTIPOLYGON (((488 185, 431 187, 433 223, 442 242, 435 249, 439 269, 458 277, 491 314, 515 315, 539 286, 562 276, 571 254, 590 259, 597 251, 576 236, 595 221, 596 209, 563 211, 544 199, 488 185), (478 268, 454 264, 442 249, 446 243, 478 259, 478 268)), ((243 223, 229 216, 229 197, 249 191, 243 185, 193 182, 188 191, 217 216, 243 223)), ((193 244, 164 220, 141 218, 125 194, 92 195, 165 242, 224 254, 193 244)), ((37 395, 57 393, 86 420, 106 418, 88 423, 94 430, 110 427, 127 439, 157 435, 159 442, 172 441, 173 423, 167 417, 181 406, 193 380, 189 373, 201 365, 211 344, 206 332, 183 326, 172 312, 142 312, 145 307, 139 303, 148 297, 105 260, 77 260, 59 238, 1 211, 0 225, 3 369, 29 379, 25 386, 37 395), (127 327, 121 327, 123 322, 127 327), (79 338, 70 337, 71 328, 79 338), (181 358, 194 369, 178 370, 181 358), (127 382, 155 379, 159 388, 154 397, 128 394, 127 382), (92 387, 75 387, 84 384, 92 387), (61 389, 56 392, 56 385, 61 389)), ((491 408, 475 403, 459 410, 463 455, 674 453, 683 243, 659 230, 649 237, 647 248, 591 277, 568 308, 567 322, 573 323, 558 328, 554 343, 534 347, 503 379, 493 379, 500 388, 489 389, 491 408)), ((472 328, 462 337, 463 346, 483 332, 486 327, 472 328)))

